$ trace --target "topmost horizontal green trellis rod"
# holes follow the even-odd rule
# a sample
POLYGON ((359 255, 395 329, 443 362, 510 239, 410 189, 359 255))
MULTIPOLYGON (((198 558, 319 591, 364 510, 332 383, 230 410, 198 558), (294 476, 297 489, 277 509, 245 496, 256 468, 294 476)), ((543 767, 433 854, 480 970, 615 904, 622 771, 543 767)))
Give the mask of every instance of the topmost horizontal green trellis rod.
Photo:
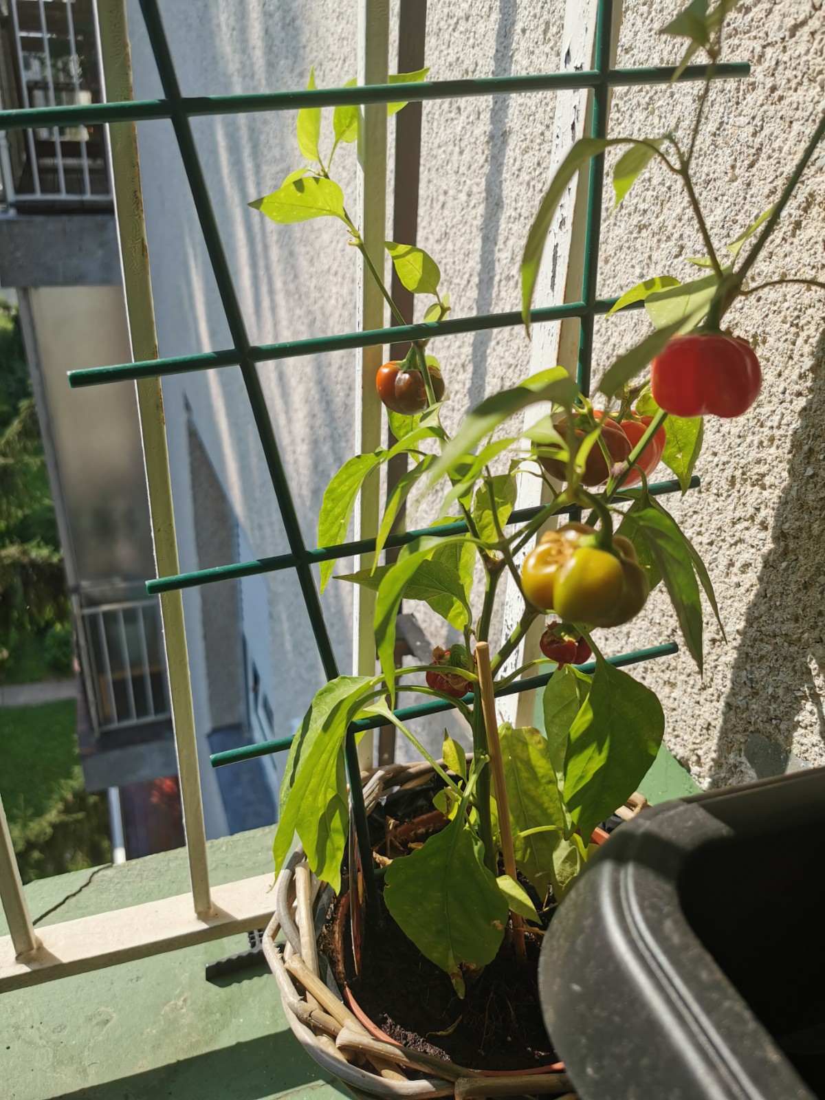
MULTIPOLYGON (((679 80, 704 80, 710 66, 689 65, 679 80)), ((619 68, 607 73, 608 85, 670 84, 674 68, 666 65, 619 68)), ((747 62, 717 65, 716 79, 750 75, 747 62)), ((270 91, 244 96, 180 96, 177 102, 189 118, 218 114, 256 114, 295 111, 301 107, 334 107, 346 103, 425 102, 430 99, 464 99, 470 96, 509 96, 528 91, 568 91, 594 88, 603 78, 596 72, 543 73, 525 76, 483 77, 477 80, 420 80, 415 84, 375 84, 354 88, 315 88, 270 91)), ((79 103, 70 107, 37 107, 0 111, 0 130, 41 127, 92 125, 102 122, 144 122, 170 119, 167 99, 134 99, 129 102, 79 103)))

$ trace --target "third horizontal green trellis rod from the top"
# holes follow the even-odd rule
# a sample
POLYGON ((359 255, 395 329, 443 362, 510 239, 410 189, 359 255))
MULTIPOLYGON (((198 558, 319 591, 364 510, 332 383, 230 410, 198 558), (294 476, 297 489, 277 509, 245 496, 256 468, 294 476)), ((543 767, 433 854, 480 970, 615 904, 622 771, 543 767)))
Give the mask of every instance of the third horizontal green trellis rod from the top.
MULTIPOLYGON (((694 474, 691 477, 690 488, 698 488, 700 484, 700 479, 694 474)), ((648 492, 651 496, 666 496, 669 493, 678 493, 680 487, 678 481, 653 482, 651 485, 648 485, 648 492)), ((622 496, 619 493, 614 498, 614 503, 622 504, 628 499, 630 498, 622 496)), ((517 508, 510 513, 507 526, 529 522, 534 516, 538 516, 543 507, 544 505, 536 505, 532 508, 517 508)), ((564 516, 571 515, 573 512, 578 514, 580 509, 573 505, 568 505, 564 508, 559 508, 553 515, 564 516)), ((416 539, 424 538, 425 536, 447 538, 450 535, 464 535, 466 534, 466 529, 464 520, 459 519, 454 524, 441 524, 439 527, 398 531, 395 535, 388 536, 385 546, 387 549, 394 549, 407 546, 407 543, 415 542, 416 539)), ((341 542, 334 547, 316 547, 315 550, 307 550, 306 559, 312 563, 336 561, 338 558, 370 553, 374 549, 375 539, 359 539, 356 542, 341 542)), ((177 588, 194 588, 200 584, 213 584, 217 581, 237 581, 242 576, 257 576, 260 573, 277 573, 279 570, 290 569, 295 564, 295 554, 282 553, 272 558, 256 558, 254 561, 238 562, 231 565, 212 565, 210 569, 194 570, 191 573, 177 573, 174 576, 158 576, 146 581, 146 592, 151 596, 154 596, 161 592, 174 592, 177 588)))

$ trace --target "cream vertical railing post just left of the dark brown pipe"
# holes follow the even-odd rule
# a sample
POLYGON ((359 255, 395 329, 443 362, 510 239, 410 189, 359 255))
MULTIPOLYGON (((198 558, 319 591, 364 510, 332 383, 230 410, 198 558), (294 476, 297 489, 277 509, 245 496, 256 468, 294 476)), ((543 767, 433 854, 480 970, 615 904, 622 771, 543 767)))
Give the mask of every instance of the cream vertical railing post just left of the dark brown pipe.
MULTIPOLYGON (((386 84, 389 51, 389 4, 387 0, 359 0, 359 84, 386 84)), ((385 267, 387 189, 387 107, 367 103, 359 124, 358 210, 361 235, 380 273, 385 267)), ((363 260, 358 267, 358 328, 378 329, 384 323, 384 298, 363 260)), ((355 359, 356 393, 355 453, 381 447, 381 402, 375 391, 375 375, 381 366, 383 348, 361 348, 355 359)), ((381 485, 377 477, 367 481, 355 509, 355 539, 377 534, 381 485)), ((355 569, 367 569, 372 554, 359 556, 355 569)), ((374 637, 375 593, 356 586, 353 609, 353 672, 375 673, 374 637)), ((359 746, 362 768, 372 767, 373 738, 364 737, 359 746)))

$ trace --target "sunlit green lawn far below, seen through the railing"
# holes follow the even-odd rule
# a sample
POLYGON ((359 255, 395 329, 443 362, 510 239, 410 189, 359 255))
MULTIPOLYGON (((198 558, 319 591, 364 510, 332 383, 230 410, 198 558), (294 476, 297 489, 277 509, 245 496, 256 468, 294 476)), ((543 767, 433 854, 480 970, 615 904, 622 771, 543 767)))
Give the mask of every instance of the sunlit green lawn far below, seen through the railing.
POLYGON ((84 789, 75 707, 0 708, 0 796, 24 882, 111 858, 106 800, 84 789))

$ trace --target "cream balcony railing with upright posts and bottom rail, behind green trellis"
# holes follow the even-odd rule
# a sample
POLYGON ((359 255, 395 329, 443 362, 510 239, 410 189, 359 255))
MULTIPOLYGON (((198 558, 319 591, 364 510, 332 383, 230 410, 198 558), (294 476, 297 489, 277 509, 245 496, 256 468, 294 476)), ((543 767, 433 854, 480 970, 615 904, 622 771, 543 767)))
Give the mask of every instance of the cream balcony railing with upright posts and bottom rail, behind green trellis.
MULTIPOLYGON (((15 0, 11 2, 14 6, 15 0)), ((24 0, 18 2, 22 3, 24 0)), ((32 3, 35 0, 26 2, 32 3)), ((36 2, 43 4, 43 0, 36 2)), ((59 2, 61 0, 51 0, 54 4, 59 2)), ((97 7, 108 98, 131 99, 125 0, 98 0, 97 7)), ((619 10, 618 16, 620 2, 617 2, 616 8, 619 10)), ((370 75, 374 79, 376 74, 387 72, 387 0, 359 0, 359 75, 362 80, 370 75)), ((566 0, 566 10, 571 19, 574 19, 576 13, 580 18, 586 18, 582 14, 581 0, 566 0)), ((582 44, 585 53, 583 43, 587 41, 587 35, 576 36, 576 42, 582 44)), ((565 43, 563 48, 570 47, 565 43)), ((583 54, 581 58, 572 61, 585 67, 590 57, 583 54)), ((378 194, 383 196, 386 187, 386 114, 384 110, 364 110, 362 118, 359 152, 363 178, 360 179, 360 194, 362 204, 366 205, 371 196, 378 194)), ((113 123, 109 127, 109 134, 111 141, 109 167, 114 182, 132 353, 135 360, 151 360, 157 355, 157 343, 136 130, 134 123, 113 123)), ((2 145, 0 145, 1 161, 2 145)), ((576 204, 573 216, 579 209, 581 205, 576 204)), ((374 226, 371 228, 375 229, 374 226)), ((365 287, 360 298, 362 323, 374 324, 375 322, 370 320, 372 300, 365 287)), ((358 360, 359 373, 365 366, 366 355, 361 353, 358 360)), ((374 389, 367 388, 374 395, 374 389)), ((136 391, 157 573, 169 575, 178 573, 179 568, 160 378, 139 381, 136 391)), ((359 410, 359 416, 362 439, 364 441, 372 439, 381 416, 376 403, 365 404, 365 407, 359 410)), ((372 516, 366 513, 362 513, 361 519, 364 527, 372 522, 372 516)), ((362 531, 364 536, 370 534, 372 534, 370 530, 362 531)), ((35 934, 0 804, 0 899, 10 928, 10 936, 0 938, 0 992, 172 950, 206 939, 217 939, 233 932, 260 928, 272 915, 271 873, 210 887, 182 593, 179 591, 164 593, 160 603, 168 673, 168 697, 178 758, 190 892, 161 902, 77 921, 65 921, 41 928, 35 934)), ((363 606, 360 607, 360 612, 363 617, 363 606)), ((106 632, 105 617, 110 614, 110 608, 98 608, 97 614, 103 617, 103 632, 106 632)), ((98 624, 100 622, 99 618, 98 624)), ((121 636, 122 645, 121 626, 125 630, 125 620, 120 617, 117 608, 116 626, 116 635, 121 636)), ((369 645, 373 659, 371 636, 365 645, 369 645)), ((125 649, 129 652, 128 637, 125 649)), ((103 650, 101 660, 102 652, 103 650)), ((356 662, 360 660, 358 650, 355 659, 356 662)), ((135 698, 132 697, 130 702, 128 686, 124 685, 124 690, 129 713, 132 713, 132 708, 136 713, 135 698)), ((134 692, 134 682, 132 691, 134 692)), ((117 706, 114 711, 117 712, 117 706)))

